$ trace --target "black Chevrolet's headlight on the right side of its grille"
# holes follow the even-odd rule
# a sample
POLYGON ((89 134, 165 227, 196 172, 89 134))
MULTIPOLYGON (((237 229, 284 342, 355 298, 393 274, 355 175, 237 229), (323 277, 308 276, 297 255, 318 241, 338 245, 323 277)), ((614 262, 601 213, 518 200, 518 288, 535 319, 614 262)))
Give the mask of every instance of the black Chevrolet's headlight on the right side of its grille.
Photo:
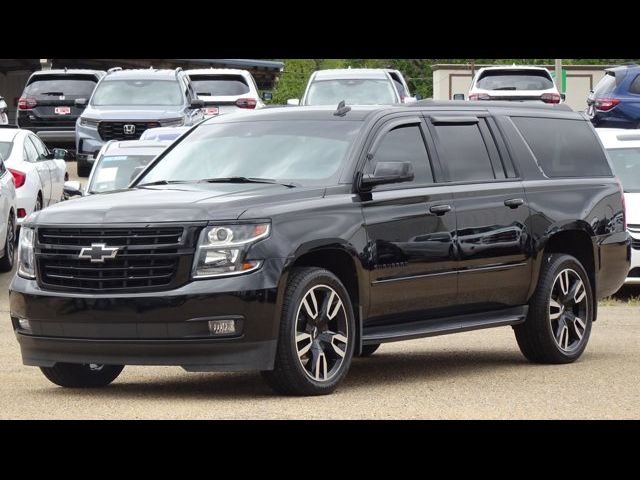
POLYGON ((270 230, 268 223, 206 227, 198 240, 193 278, 239 275, 257 270, 262 260, 245 260, 245 256, 253 243, 269 236, 270 230))

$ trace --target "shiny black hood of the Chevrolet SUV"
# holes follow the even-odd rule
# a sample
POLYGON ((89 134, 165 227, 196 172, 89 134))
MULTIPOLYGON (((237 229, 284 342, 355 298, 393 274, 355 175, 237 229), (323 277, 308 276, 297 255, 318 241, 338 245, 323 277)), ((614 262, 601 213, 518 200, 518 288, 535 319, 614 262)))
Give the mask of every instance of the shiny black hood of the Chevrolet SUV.
POLYGON ((248 208, 322 197, 324 188, 275 184, 168 185, 90 195, 57 203, 27 224, 156 223, 235 220, 248 208))

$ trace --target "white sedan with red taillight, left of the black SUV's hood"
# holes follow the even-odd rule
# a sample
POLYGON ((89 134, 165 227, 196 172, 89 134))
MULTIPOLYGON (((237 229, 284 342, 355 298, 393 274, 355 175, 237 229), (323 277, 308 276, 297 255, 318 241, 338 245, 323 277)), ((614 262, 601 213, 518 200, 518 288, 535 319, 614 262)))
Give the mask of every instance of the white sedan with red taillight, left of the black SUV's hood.
POLYGON ((21 225, 32 212, 62 199, 62 188, 67 178, 66 153, 59 148, 49 150, 29 130, 0 128, 0 154, 15 180, 14 221, 17 225, 21 225))

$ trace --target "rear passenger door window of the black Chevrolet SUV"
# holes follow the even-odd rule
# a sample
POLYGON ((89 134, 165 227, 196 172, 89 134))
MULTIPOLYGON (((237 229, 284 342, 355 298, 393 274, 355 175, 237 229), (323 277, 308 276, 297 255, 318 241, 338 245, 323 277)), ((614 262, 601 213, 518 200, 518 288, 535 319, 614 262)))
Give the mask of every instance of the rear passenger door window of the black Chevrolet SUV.
POLYGON ((449 180, 493 180, 491 159, 478 124, 434 125, 436 148, 449 180))

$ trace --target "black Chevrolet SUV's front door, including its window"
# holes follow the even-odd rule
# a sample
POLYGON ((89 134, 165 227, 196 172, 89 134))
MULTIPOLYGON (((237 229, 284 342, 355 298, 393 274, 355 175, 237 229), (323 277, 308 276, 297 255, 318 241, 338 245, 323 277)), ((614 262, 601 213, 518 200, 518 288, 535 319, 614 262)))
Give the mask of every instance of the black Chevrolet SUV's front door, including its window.
POLYGON ((387 122, 363 168, 370 173, 378 162, 411 162, 415 173, 412 182, 374 187, 363 197, 371 322, 421 320, 456 298, 453 197, 435 183, 427 135, 416 117, 387 122))

